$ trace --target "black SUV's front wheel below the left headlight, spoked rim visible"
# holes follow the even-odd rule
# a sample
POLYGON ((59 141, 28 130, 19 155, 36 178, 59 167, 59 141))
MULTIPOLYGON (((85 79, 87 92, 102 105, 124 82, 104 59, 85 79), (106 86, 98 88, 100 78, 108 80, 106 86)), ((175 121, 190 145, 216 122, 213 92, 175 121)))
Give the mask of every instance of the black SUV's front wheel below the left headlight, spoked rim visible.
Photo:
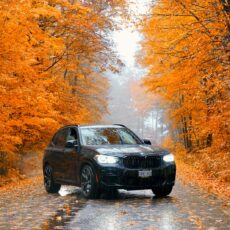
POLYGON ((83 166, 81 170, 81 189, 83 196, 87 199, 97 199, 100 196, 96 174, 90 165, 83 166))

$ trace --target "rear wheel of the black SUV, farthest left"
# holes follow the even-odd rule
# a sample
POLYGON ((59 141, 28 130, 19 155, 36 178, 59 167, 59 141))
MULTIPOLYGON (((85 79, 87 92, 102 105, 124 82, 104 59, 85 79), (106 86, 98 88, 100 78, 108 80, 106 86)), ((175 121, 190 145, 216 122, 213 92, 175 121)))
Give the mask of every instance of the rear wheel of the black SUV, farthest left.
POLYGON ((60 184, 54 183, 52 168, 48 164, 44 168, 44 187, 48 193, 57 193, 61 188, 60 184))

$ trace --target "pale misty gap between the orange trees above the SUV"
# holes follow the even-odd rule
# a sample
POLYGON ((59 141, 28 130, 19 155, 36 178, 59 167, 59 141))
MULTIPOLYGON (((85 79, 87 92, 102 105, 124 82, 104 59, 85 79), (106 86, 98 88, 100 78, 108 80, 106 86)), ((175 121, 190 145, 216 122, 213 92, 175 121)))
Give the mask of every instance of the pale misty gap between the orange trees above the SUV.
MULTIPOLYGON (((152 0, 130 0, 128 11, 132 15, 131 21, 142 20, 152 4, 152 0)), ((146 92, 142 85, 142 79, 148 72, 137 60, 137 56, 141 55, 143 35, 130 20, 122 17, 114 20, 119 21, 121 28, 111 34, 111 39, 124 67, 119 73, 106 73, 110 90, 108 114, 103 123, 124 124, 141 138, 161 145, 168 134, 168 123, 160 98, 146 92)))

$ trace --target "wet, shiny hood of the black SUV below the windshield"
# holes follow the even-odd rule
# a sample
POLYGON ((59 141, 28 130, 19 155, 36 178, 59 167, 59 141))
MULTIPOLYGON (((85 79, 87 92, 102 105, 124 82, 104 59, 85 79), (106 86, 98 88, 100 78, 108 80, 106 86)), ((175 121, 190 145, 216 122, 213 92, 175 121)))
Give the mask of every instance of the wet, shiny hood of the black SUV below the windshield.
POLYGON ((94 150, 99 154, 105 154, 110 156, 146 156, 146 155, 165 155, 167 150, 153 147, 150 145, 116 145, 116 146, 85 146, 85 148, 94 150))

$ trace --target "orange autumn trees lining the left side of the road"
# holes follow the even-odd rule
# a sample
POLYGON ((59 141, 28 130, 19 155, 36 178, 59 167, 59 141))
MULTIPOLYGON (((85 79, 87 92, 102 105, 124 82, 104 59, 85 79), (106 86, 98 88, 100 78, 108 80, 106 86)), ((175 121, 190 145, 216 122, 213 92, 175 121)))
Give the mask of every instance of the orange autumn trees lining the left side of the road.
POLYGON ((106 34, 124 1, 0 1, 0 175, 67 123, 107 111, 106 34))

